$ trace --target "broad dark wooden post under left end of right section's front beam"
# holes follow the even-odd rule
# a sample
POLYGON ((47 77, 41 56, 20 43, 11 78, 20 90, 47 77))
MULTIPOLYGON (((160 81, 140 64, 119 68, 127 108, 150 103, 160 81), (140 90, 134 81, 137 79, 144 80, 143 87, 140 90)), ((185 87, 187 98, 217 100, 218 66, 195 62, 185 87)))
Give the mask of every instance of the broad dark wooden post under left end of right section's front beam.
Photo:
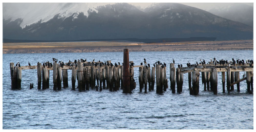
POLYGON ((192 89, 190 95, 198 95, 199 93, 199 71, 192 72, 192 89))

